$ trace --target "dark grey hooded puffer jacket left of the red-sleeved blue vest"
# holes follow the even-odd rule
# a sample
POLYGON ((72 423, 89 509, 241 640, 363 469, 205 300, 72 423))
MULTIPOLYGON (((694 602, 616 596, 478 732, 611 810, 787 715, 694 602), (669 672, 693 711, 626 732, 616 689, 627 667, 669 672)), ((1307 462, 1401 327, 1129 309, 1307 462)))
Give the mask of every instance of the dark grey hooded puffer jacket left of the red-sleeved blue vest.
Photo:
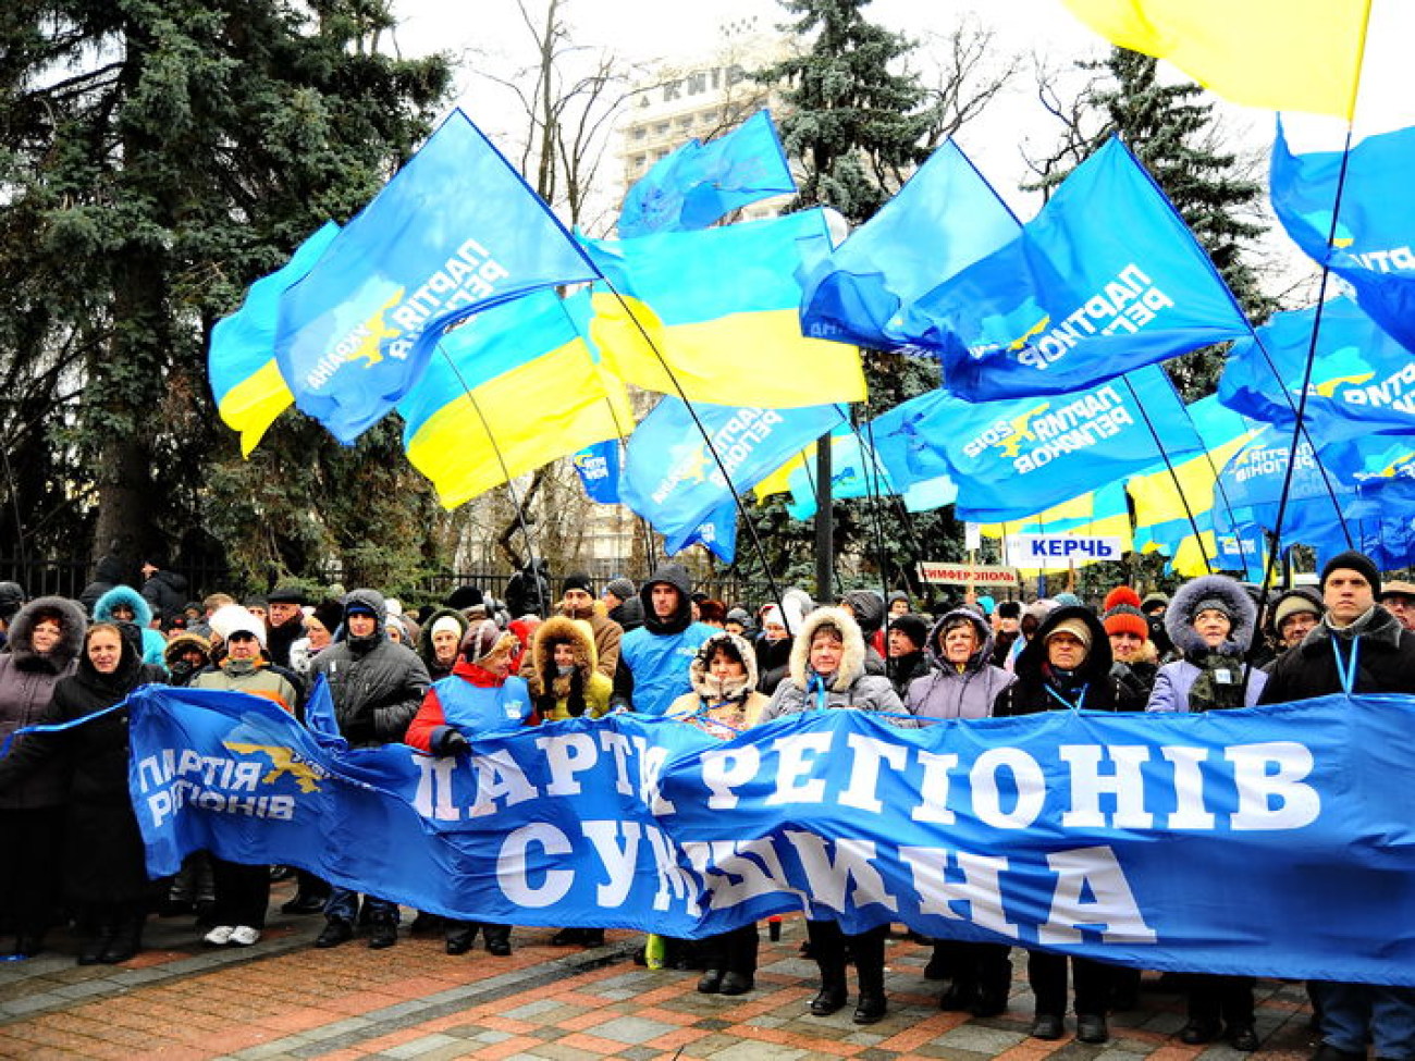
POLYGON ((310 672, 324 675, 334 717, 351 747, 378 747, 403 740, 432 682, 427 668, 408 645, 388 639, 388 608, 376 590, 354 590, 344 598, 341 639, 323 649, 310 672), (362 604, 374 613, 374 632, 348 634, 348 613, 362 604))

